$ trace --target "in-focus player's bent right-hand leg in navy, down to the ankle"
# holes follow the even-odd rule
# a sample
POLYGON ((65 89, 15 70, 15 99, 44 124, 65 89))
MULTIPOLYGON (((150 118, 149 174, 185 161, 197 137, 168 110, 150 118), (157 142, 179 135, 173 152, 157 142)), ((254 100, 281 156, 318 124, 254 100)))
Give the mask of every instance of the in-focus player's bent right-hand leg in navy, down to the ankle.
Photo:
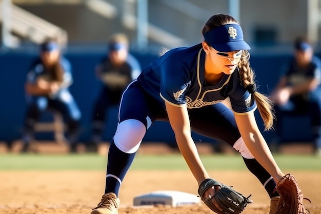
POLYGON ((275 182, 271 175, 260 165, 240 137, 234 114, 223 104, 189 110, 192 130, 209 138, 230 144, 242 154, 247 168, 262 183, 270 198, 278 196, 274 191, 275 182))

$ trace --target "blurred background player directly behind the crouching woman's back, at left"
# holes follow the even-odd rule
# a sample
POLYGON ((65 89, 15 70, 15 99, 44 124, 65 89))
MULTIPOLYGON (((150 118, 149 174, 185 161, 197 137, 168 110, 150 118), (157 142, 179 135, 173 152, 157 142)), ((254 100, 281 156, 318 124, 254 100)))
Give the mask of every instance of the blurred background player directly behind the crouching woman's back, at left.
POLYGON ((103 86, 93 108, 89 151, 96 151, 98 143, 102 142, 108 107, 119 104, 127 85, 141 73, 141 66, 129 53, 129 41, 125 34, 117 33, 110 38, 107 56, 95 71, 103 86))

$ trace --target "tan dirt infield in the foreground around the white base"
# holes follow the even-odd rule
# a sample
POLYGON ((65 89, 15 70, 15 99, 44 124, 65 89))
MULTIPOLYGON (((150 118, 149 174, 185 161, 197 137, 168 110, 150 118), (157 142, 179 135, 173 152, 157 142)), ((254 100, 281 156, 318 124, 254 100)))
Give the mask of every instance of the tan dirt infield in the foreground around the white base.
MULTIPOLYGON (((211 177, 252 194, 254 204, 245 214, 268 213, 269 198, 248 171, 210 171, 211 177)), ((311 213, 321 213, 321 172, 292 171, 311 213)), ((0 171, 0 213, 89 214, 100 201, 105 188, 105 171, 0 171)), ((176 190, 197 194, 197 184, 189 171, 129 171, 121 188, 119 214, 197 214, 213 213, 199 206, 132 207, 133 198, 157 190, 176 190)))

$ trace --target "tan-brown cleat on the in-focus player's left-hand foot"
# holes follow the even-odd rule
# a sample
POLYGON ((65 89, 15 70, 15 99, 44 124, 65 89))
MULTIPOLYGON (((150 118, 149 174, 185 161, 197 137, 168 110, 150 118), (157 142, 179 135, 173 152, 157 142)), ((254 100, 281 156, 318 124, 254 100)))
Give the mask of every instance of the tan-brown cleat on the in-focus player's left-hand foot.
POLYGON ((101 202, 93 208, 91 214, 118 214, 119 199, 116 194, 109 192, 104 194, 101 202))

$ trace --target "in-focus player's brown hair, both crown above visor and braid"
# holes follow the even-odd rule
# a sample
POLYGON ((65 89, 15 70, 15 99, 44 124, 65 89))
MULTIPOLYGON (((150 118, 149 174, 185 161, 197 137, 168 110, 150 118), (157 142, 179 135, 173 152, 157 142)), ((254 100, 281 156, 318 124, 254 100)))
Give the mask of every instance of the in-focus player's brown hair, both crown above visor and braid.
MULTIPOLYGON (((216 27, 227 24, 238 24, 238 22, 228 14, 213 15, 204 25, 202 34, 204 35, 206 32, 213 30, 216 27)), ((242 55, 246 56, 247 54, 247 51, 243 51, 242 55)), ((274 120, 273 103, 266 95, 256 91, 255 74, 253 69, 250 67, 249 57, 241 59, 238 63, 238 68, 242 86, 253 95, 259 114, 263 119, 265 130, 271 129, 273 127, 274 120)))

